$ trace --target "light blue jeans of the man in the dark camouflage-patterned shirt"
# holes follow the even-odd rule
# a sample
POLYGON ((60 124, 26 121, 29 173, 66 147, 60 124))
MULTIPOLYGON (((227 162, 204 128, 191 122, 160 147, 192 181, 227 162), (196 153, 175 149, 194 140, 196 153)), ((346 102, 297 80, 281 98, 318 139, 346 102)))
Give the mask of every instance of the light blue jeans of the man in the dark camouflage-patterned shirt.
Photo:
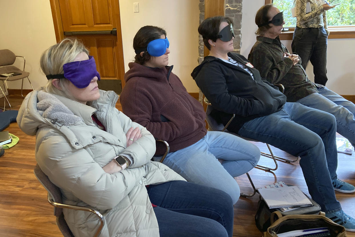
POLYGON ((355 146, 355 104, 327 87, 317 86, 317 89, 319 93, 312 93, 297 102, 333 114, 337 120, 337 132, 355 146))

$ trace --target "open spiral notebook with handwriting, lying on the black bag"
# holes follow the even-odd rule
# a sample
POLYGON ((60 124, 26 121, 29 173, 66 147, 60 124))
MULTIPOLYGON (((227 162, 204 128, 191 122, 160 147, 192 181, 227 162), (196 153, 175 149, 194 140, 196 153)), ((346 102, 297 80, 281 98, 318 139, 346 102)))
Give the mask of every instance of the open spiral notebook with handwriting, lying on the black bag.
POLYGON ((258 189, 269 208, 312 206, 311 201, 297 186, 258 189))

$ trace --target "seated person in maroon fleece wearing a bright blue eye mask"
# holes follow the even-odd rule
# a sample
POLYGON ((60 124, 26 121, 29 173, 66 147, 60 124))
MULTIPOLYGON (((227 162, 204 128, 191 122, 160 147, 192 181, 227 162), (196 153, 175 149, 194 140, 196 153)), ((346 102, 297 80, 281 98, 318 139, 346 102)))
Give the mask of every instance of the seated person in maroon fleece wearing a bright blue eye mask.
MULTIPOLYGON (((231 134, 206 130, 203 106, 187 93, 173 66, 167 66, 170 50, 164 29, 142 27, 133 48, 135 62, 129 63, 120 96, 122 111, 155 139, 169 143, 165 165, 189 182, 223 190, 236 203, 240 189, 234 177, 257 165, 260 150, 231 134)), ((158 142, 154 160, 160 161, 164 152, 158 142)))

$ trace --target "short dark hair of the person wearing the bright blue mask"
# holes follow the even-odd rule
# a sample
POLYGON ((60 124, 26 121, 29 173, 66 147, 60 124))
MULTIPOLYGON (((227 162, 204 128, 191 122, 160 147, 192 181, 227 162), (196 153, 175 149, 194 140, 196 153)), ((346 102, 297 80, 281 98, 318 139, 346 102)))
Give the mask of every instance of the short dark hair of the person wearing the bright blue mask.
POLYGON ((133 49, 141 51, 136 53, 135 63, 143 65, 151 59, 151 55, 149 55, 147 52, 147 45, 154 39, 160 39, 162 34, 164 34, 166 37, 166 31, 157 26, 143 26, 138 30, 135 37, 133 38, 133 49), (141 56, 141 52, 143 51, 143 56, 141 56))

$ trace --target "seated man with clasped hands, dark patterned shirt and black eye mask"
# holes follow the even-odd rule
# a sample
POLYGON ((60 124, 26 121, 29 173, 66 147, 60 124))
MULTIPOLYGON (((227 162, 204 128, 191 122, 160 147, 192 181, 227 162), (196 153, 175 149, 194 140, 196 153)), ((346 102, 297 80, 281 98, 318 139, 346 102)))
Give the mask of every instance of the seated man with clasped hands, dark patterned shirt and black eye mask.
MULTIPOLYGON (((257 11, 255 23, 264 25, 278 14, 280 10, 272 4, 264 5, 257 11)), ((248 60, 260 72, 262 78, 272 84, 284 85, 288 102, 298 102, 333 114, 337 120, 337 132, 355 146, 355 105, 327 87, 308 80, 299 55, 289 54, 280 41, 279 34, 284 23, 269 23, 267 27, 265 25, 258 28, 257 41, 250 50, 248 60)), ((339 192, 355 192, 355 188, 342 183, 334 185, 335 190, 339 192)))

